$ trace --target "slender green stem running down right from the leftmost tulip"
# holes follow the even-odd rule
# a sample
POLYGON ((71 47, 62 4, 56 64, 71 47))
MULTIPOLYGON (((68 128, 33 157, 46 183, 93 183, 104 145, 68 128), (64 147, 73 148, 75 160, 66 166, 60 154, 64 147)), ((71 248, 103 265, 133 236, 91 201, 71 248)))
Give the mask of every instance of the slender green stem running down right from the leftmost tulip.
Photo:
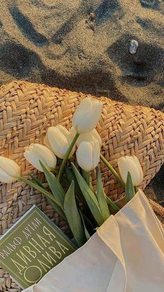
POLYGON ((22 176, 19 177, 19 180, 22 180, 27 185, 31 185, 31 187, 33 187, 34 189, 42 192, 42 194, 44 194, 47 197, 47 199, 50 200, 50 203, 51 203, 51 201, 53 201, 52 206, 54 207, 54 209, 56 210, 56 212, 58 213, 58 215, 60 215, 61 217, 63 217, 64 220, 67 221, 67 219, 65 217, 65 213, 60 208, 60 206, 58 205, 58 203, 57 203, 54 195, 51 194, 51 192, 48 192, 43 187, 40 187, 40 185, 37 185, 36 183, 33 183, 31 180, 28 180, 26 178, 22 178, 22 176))

